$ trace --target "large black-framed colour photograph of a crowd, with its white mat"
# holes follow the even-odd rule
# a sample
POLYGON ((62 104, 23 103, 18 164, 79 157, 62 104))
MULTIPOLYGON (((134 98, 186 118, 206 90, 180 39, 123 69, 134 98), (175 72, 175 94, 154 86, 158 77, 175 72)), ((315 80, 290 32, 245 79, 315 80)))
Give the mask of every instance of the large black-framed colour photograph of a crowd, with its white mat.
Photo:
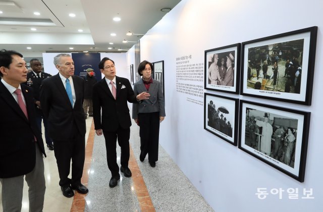
POLYGON ((310 105, 317 27, 242 43, 242 95, 310 105))

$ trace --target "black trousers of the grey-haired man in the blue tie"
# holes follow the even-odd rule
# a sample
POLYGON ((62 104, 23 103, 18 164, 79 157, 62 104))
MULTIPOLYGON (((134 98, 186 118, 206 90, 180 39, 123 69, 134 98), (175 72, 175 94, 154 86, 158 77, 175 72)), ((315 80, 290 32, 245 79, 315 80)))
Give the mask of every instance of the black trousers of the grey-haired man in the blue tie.
MULTIPOLYGON (((58 132, 59 133, 59 132, 58 132)), ((71 132, 72 138, 53 140, 54 154, 60 175, 60 186, 81 184, 85 160, 85 136, 78 131, 76 124, 71 132), (69 179, 72 160, 72 179, 69 179)))

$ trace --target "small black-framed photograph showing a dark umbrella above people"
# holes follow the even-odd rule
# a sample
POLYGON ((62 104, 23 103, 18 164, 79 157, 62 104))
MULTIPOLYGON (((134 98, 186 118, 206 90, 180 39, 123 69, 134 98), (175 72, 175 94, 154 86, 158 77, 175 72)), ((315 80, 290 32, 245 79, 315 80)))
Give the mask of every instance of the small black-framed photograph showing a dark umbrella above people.
POLYGON ((204 129, 236 146, 238 109, 239 99, 204 93, 204 129))

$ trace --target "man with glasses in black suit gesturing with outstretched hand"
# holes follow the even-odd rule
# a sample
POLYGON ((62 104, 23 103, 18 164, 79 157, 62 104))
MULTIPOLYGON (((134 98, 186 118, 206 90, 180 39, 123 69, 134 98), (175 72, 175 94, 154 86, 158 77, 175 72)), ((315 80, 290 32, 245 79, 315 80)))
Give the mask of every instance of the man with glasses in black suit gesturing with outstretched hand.
POLYGON ((116 76, 115 62, 109 58, 101 60, 99 69, 105 77, 93 86, 93 119, 96 134, 103 133, 105 138, 107 166, 112 174, 109 186, 115 187, 120 179, 116 151, 117 137, 121 147, 120 171, 125 177, 131 177, 128 168, 131 119, 127 101, 139 103, 142 99, 148 99, 149 93, 142 92, 136 96, 129 80, 116 76))

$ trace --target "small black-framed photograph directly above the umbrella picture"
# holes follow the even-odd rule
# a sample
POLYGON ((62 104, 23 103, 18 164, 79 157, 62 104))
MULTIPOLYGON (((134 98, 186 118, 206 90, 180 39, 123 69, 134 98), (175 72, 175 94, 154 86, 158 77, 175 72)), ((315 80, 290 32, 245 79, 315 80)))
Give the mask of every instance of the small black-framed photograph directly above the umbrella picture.
POLYGON ((204 89, 239 93, 240 48, 237 43, 204 51, 204 89))

